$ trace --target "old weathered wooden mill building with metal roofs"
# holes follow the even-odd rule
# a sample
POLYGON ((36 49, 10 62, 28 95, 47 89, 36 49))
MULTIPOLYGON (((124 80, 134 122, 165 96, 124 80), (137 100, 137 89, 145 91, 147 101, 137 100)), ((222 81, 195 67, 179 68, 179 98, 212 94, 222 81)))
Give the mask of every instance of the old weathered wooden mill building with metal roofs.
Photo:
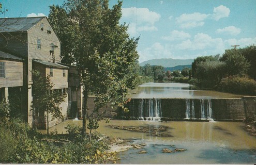
MULTIPOLYGON (((81 113, 82 89, 76 67, 61 63, 61 41, 47 17, 0 19, 0 99, 12 96, 20 100, 20 110, 25 121, 35 128, 46 128, 46 116, 33 108, 32 70, 41 76, 51 76, 53 90, 67 92, 62 113, 68 117, 81 113)), ((50 120, 50 127, 62 120, 50 120)))

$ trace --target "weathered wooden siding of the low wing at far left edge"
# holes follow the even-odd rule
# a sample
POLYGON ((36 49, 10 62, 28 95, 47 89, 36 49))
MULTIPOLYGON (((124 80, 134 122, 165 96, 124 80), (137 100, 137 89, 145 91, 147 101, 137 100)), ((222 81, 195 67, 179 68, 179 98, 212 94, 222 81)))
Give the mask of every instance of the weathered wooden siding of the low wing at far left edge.
POLYGON ((23 86, 23 63, 1 59, 0 61, 5 62, 5 78, 0 78, 0 88, 23 86))

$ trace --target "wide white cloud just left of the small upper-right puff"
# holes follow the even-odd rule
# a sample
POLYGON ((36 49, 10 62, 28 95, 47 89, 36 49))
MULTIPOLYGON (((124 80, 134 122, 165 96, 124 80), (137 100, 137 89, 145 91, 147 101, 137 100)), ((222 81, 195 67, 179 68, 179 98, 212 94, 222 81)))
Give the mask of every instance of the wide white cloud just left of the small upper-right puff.
POLYGON ((194 12, 192 14, 182 14, 176 18, 176 23, 179 24, 181 28, 192 28, 204 25, 204 20, 209 16, 209 14, 202 14, 199 12, 194 12))

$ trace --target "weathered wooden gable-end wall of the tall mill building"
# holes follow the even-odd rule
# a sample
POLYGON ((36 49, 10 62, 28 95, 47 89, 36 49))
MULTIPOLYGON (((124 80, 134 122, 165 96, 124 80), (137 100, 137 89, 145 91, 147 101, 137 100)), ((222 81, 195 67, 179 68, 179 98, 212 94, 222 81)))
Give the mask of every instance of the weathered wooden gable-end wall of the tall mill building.
POLYGON ((61 43, 56 34, 52 30, 51 34, 47 33, 50 23, 46 18, 38 22, 34 27, 27 31, 28 34, 28 80, 31 81, 32 59, 40 59, 43 61, 53 62, 52 54, 50 55, 51 43, 58 47, 55 48, 55 62, 61 61, 61 43), (43 23, 43 30, 41 30, 41 23, 43 23), (41 39, 41 49, 37 48, 37 39, 41 39))

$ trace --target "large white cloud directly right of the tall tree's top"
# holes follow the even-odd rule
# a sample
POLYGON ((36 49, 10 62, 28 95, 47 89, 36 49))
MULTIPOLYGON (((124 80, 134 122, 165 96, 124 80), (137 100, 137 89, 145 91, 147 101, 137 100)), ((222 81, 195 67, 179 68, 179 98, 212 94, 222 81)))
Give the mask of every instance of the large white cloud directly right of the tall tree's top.
POLYGON ((139 31, 157 31, 155 23, 159 21, 161 15, 148 8, 122 8, 122 22, 129 24, 128 32, 134 36, 139 31))

